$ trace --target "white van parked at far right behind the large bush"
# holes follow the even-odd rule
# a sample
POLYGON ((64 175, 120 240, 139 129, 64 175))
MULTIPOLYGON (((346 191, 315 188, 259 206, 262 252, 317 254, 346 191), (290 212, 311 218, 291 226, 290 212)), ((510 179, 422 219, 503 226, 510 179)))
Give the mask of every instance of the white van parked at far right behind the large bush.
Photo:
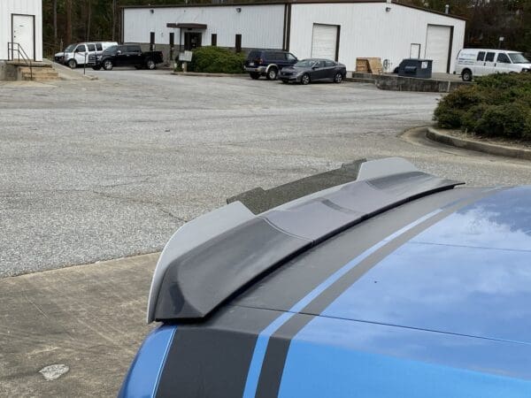
POLYGON ((461 79, 490 73, 531 72, 531 62, 521 52, 511 50, 463 49, 458 53, 456 71, 461 79))

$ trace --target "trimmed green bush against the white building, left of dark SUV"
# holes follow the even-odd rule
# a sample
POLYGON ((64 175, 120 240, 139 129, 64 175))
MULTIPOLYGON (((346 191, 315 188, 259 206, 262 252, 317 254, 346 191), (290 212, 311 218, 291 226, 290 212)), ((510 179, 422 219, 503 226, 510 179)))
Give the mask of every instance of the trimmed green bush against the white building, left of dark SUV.
POLYGON ((245 56, 220 47, 200 47, 194 50, 190 72, 243 73, 245 56))

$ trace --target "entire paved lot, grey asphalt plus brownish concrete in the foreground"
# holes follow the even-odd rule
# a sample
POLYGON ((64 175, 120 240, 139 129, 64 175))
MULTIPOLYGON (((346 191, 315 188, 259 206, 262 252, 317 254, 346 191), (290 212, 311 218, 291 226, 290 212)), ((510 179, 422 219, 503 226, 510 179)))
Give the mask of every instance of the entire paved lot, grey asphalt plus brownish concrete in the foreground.
POLYGON ((0 86, 0 396, 115 395, 149 330, 157 254, 102 261, 158 252, 228 196, 359 157, 406 157, 473 186, 531 183, 527 161, 398 137, 432 122, 435 94, 90 74, 0 86), (58 270, 75 264, 89 265, 58 270), (47 382, 49 364, 70 370, 47 382))

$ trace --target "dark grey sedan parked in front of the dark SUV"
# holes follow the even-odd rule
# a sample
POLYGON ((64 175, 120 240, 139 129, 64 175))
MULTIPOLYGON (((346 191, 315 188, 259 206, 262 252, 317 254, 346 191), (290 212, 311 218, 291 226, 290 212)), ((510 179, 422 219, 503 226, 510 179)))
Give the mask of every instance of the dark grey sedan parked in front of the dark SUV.
POLYGON ((296 81, 308 84, 312 81, 331 80, 341 83, 347 75, 347 68, 331 59, 309 58, 281 70, 282 83, 296 81))

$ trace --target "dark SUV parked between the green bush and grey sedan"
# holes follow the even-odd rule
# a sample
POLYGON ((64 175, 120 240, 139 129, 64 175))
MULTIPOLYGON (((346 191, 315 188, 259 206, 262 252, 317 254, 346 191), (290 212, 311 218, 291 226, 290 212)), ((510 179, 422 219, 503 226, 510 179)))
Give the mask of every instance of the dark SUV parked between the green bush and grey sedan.
POLYGON ((294 65, 296 57, 282 50, 251 50, 245 61, 245 72, 251 79, 266 76, 267 80, 275 80, 284 66, 294 65))

